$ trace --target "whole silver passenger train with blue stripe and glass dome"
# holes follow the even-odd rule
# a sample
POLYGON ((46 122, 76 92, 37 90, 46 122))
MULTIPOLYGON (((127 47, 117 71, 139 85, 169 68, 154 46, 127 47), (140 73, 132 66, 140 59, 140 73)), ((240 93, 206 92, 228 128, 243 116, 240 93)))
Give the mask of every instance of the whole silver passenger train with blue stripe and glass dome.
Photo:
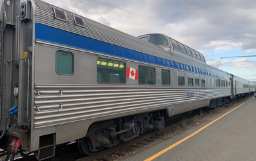
POLYGON ((77 140, 84 155, 214 108, 255 84, 161 33, 132 37, 39 0, 0 1, 0 147, 38 160, 77 140))

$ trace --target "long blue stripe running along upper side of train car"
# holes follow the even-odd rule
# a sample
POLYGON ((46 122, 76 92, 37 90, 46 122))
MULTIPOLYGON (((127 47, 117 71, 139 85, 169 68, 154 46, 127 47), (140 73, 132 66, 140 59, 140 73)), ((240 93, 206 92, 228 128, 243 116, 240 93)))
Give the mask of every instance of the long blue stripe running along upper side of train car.
POLYGON ((153 55, 137 52, 135 50, 123 48, 114 44, 105 43, 103 41, 98 41, 89 37, 77 35, 75 33, 66 32, 51 26, 46 26, 44 24, 35 23, 35 39, 221 78, 221 75, 217 75, 210 71, 205 71, 194 66, 162 59, 161 57, 155 57, 153 55))

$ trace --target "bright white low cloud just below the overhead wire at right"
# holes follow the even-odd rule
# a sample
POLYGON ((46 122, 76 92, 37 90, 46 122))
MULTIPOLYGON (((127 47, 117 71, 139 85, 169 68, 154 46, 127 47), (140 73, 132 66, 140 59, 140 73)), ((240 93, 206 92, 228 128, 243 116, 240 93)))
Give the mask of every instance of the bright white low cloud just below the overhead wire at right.
POLYGON ((215 68, 231 66, 237 70, 250 69, 256 71, 256 60, 237 59, 235 61, 207 61, 207 64, 215 68))

